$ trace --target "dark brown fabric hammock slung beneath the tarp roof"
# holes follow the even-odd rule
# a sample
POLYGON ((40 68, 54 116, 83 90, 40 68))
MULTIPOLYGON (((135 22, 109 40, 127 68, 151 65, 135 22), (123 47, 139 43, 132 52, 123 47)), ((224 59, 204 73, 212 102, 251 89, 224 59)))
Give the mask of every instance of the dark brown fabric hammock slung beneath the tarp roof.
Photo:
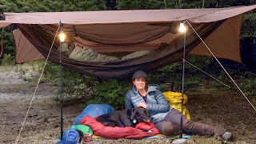
MULTIPOLYGON (((218 26, 222 25, 223 21, 220 22, 210 22, 207 24, 197 24, 195 25, 195 29, 198 30, 198 34, 202 36, 202 38, 206 38, 211 34, 214 30, 218 28, 218 26)), ((37 25, 22 25, 18 24, 18 29, 22 31, 22 34, 37 48, 37 50, 46 57, 50 50, 50 45, 52 39, 54 39, 54 33, 50 32, 50 29, 46 29, 46 27, 54 27, 54 26, 37 26, 37 25)), ((159 26, 158 26, 159 27, 159 26)), ((161 27, 161 26, 160 26, 161 27)), ((164 26, 166 27, 166 26, 164 26)), ((168 26, 167 26, 168 27, 168 26)), ((170 29, 170 26, 169 26, 170 29)), ((154 34, 154 37, 151 39, 156 39, 158 37, 162 37, 162 35, 167 34, 169 31, 164 31, 158 34, 154 34), (159 36, 156 36, 159 35, 159 36)), ((69 33, 68 33, 69 34, 69 33)), ((136 35, 136 34, 134 34, 136 35)), ((80 35, 81 36, 81 35, 80 35)), ((68 36, 71 38, 70 34, 68 36)), ((101 38, 97 38, 95 34, 94 42, 98 39, 97 42, 104 42, 101 38), (96 40, 95 40, 96 39, 96 40)), ((82 35, 82 38, 86 39, 85 35, 82 35)), ((144 43, 148 38, 142 38, 142 41, 136 39, 133 42, 126 42, 126 45, 129 47, 130 45, 138 45, 140 43, 144 43)), ((91 40, 87 38, 86 40, 91 40)), ((76 40, 74 40, 76 41, 76 40)), ((79 62, 74 59, 66 57, 62 54, 62 65, 69 67, 72 70, 77 70, 83 74, 89 74, 98 78, 125 78, 132 74, 134 70, 155 70, 162 66, 166 66, 171 62, 177 62, 182 58, 182 47, 183 47, 183 35, 180 34, 178 38, 175 38, 172 42, 168 43, 169 46, 166 46, 163 49, 156 49, 152 51, 150 54, 139 58, 132 58, 127 60, 119 60, 119 61, 111 61, 111 62, 79 62)), ((192 30, 187 32, 186 38, 186 53, 193 50, 195 46, 200 43, 200 39, 198 39, 197 35, 194 34, 192 30)), ((123 46, 123 43, 114 43, 114 42, 104 42, 105 45, 108 46, 123 46)), ((59 52, 57 51, 57 47, 59 46, 58 42, 54 43, 55 50, 53 50, 50 54, 51 62, 59 62, 59 52)))

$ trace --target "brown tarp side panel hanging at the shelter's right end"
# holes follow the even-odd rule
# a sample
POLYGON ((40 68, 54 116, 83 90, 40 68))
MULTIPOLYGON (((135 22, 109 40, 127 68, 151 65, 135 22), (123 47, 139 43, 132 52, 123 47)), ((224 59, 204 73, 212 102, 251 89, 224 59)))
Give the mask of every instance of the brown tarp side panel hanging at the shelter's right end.
MULTIPOLYGON (((204 40, 216 57, 242 62, 240 56, 241 21, 242 14, 234 18, 229 18, 204 40)), ((191 50, 190 54, 212 56, 202 42, 191 50)))

